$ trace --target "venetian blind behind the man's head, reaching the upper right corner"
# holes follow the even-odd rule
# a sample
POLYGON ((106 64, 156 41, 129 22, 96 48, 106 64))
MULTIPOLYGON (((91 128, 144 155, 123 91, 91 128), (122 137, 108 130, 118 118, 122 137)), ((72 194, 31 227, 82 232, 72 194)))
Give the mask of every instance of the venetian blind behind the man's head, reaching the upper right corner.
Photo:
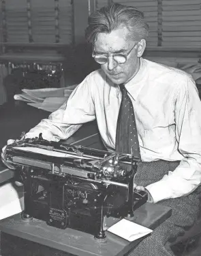
POLYGON ((201 0, 96 0, 132 5, 150 27, 148 47, 201 47, 201 0))

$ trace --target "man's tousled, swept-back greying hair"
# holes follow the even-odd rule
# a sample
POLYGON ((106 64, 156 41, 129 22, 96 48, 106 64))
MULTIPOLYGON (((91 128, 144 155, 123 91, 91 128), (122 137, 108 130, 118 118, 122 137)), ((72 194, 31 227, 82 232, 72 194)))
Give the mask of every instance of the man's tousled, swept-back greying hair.
POLYGON ((127 27, 132 40, 146 40, 149 36, 149 25, 144 21, 143 12, 119 3, 112 3, 91 14, 85 36, 88 42, 94 44, 98 33, 109 34, 120 27, 127 27))

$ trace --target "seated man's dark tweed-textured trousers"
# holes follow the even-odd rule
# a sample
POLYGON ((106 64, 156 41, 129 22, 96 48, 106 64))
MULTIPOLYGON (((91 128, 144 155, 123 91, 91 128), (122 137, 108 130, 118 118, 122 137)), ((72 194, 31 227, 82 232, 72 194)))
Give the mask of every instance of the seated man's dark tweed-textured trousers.
MULTIPOLYGON (((146 186, 159 181, 178 165, 179 162, 166 162, 163 160, 142 162, 138 166, 135 183, 146 186)), ((142 240, 127 256, 173 256, 174 253, 170 248, 170 242, 179 235, 183 235, 185 229, 194 225, 198 218, 199 203, 198 190, 188 196, 167 199, 157 203, 171 207, 172 216, 159 225, 149 237, 142 240)))

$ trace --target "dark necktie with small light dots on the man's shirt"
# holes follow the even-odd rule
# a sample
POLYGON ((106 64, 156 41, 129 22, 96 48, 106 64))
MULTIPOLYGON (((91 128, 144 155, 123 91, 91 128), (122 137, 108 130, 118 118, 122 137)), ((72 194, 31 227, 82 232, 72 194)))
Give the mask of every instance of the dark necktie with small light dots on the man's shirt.
POLYGON ((121 84, 119 87, 122 92, 122 99, 117 119, 115 150, 119 153, 133 153, 134 157, 140 158, 134 106, 127 94, 125 86, 121 84))

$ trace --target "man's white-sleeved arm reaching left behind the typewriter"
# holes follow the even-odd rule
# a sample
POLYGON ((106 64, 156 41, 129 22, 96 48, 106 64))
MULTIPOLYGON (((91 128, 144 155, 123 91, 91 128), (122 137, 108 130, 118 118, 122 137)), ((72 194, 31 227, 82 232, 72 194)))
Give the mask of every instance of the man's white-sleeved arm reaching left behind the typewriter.
POLYGON ((65 140, 83 123, 94 120, 93 85, 93 74, 90 74, 76 87, 59 110, 31 129, 25 138, 35 138, 42 133, 42 137, 46 140, 65 140))

